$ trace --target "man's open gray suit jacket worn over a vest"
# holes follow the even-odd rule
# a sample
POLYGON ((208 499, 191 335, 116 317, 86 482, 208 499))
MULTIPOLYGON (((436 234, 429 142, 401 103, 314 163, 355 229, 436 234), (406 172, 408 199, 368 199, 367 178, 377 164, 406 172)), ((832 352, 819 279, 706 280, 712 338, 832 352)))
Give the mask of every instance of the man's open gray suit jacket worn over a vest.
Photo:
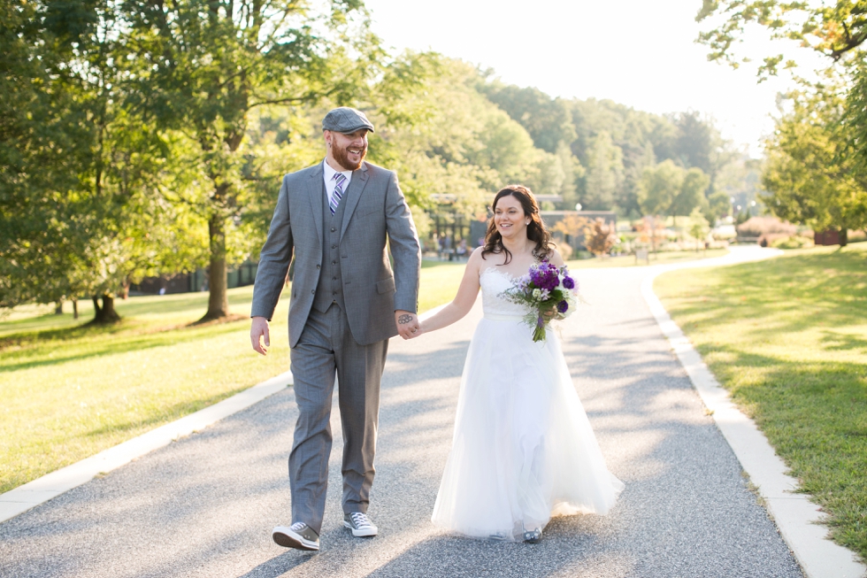
MULTIPOLYGON (((295 251, 290 347, 298 343, 307 322, 322 266, 322 173, 319 163, 283 177, 253 288, 250 316, 271 320, 295 251)), ((345 202, 340 243, 343 301, 353 338, 366 345, 397 335, 395 310, 416 312, 421 250, 394 172, 362 163, 352 173, 345 202)))

